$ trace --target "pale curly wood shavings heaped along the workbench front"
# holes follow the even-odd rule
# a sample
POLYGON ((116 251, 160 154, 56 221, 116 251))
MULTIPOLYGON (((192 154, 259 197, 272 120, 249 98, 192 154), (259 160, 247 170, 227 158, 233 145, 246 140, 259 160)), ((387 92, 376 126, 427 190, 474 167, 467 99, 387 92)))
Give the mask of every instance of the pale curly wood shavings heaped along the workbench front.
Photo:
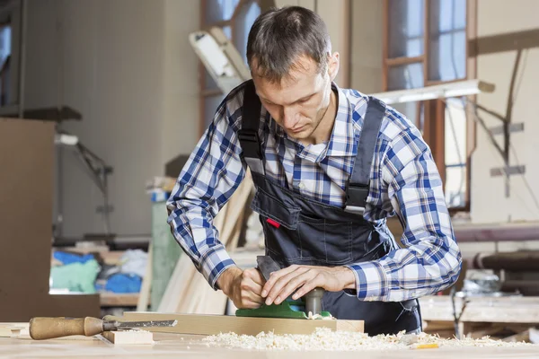
POLYGON ((252 350, 290 350, 290 351, 362 351, 413 349, 419 345, 436 344, 438 347, 462 346, 533 346, 524 342, 502 342, 489 337, 481 339, 465 338, 443 339, 421 333, 415 337, 398 335, 379 335, 369 337, 365 333, 333 331, 330 328, 316 328, 311 335, 276 335, 261 332, 257 336, 221 333, 202 339, 207 346, 224 346, 252 350))

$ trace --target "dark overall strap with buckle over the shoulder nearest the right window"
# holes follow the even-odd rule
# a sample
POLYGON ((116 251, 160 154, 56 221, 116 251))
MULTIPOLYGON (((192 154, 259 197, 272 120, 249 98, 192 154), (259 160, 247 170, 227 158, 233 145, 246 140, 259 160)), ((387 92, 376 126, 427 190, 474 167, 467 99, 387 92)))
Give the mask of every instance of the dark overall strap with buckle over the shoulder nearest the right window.
POLYGON ((370 185, 375 146, 385 114, 385 104, 369 98, 363 128, 359 135, 358 154, 346 191, 345 210, 363 215, 370 185))

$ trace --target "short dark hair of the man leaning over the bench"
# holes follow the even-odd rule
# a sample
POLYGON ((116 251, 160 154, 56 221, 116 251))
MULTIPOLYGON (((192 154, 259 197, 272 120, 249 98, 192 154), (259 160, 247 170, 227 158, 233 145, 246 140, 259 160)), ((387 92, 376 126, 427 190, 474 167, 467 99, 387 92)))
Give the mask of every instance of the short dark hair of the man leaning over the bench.
POLYGON ((251 70, 280 82, 295 69, 297 57, 311 57, 326 71, 331 40, 322 18, 301 6, 285 6, 262 13, 252 24, 247 39, 247 62, 251 70), (256 60, 256 68, 253 68, 256 60))

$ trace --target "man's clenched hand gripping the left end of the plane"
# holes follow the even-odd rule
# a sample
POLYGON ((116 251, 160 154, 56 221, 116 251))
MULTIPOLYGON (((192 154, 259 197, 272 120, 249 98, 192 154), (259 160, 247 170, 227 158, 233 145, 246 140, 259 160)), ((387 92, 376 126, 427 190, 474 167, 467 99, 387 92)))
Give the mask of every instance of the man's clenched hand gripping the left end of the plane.
POLYGON ((238 309, 256 309, 263 303, 261 297, 264 278, 256 268, 242 270, 230 267, 217 280, 217 285, 223 290, 238 309))

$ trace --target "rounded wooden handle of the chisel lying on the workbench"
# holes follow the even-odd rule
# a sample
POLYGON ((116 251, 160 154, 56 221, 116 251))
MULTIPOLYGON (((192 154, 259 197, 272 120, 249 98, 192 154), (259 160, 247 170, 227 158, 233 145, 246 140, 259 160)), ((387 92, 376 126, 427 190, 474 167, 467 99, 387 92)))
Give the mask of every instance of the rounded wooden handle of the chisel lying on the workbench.
POLYGON ((92 317, 77 319, 36 317, 30 320, 30 337, 36 340, 68 336, 92 337, 102 331, 103 320, 92 317))

